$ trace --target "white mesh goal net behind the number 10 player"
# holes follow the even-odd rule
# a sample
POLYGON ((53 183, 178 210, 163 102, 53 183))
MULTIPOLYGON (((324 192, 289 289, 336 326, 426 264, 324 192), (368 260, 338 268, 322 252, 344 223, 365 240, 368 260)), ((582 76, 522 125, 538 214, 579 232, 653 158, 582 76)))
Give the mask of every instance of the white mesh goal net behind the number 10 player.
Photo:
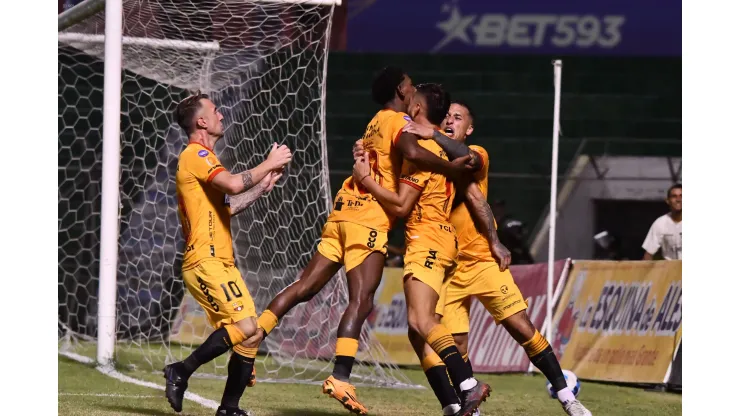
MULTIPOLYGON (((186 138, 172 111, 193 90, 208 93, 224 115, 215 152, 229 170, 254 167, 273 142, 293 150, 281 183, 232 218, 237 267, 257 310, 307 265, 331 203, 324 112, 332 3, 124 0, 119 368, 160 371, 211 332, 180 277, 174 177, 186 138)), ((104 22, 101 10, 58 37, 59 348, 87 356, 98 335, 104 22)), ((340 272, 265 340, 258 379, 322 381, 346 303, 340 272)), ((358 384, 411 385, 367 325, 358 359, 358 384)), ((227 360, 198 374, 223 377, 227 360)))

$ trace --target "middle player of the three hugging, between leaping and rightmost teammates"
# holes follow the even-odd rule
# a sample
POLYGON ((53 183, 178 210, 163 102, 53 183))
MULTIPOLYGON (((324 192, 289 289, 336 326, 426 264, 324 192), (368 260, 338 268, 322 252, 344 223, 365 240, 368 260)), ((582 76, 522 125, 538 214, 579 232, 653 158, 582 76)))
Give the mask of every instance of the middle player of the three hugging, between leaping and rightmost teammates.
MULTIPOLYGON (((450 106, 449 94, 438 84, 422 84, 409 105, 414 121, 428 129, 439 129, 450 106)), ((447 154, 433 140, 419 140, 422 147, 441 159, 447 154)), ((454 270, 457 257, 455 229, 449 222, 455 187, 443 174, 403 162, 398 193, 384 188, 373 177, 370 154, 355 162, 353 175, 380 204, 396 217, 406 220, 404 293, 408 314, 409 338, 419 357, 425 343, 442 357, 451 381, 459 388, 460 405, 445 408, 445 413, 470 416, 490 393, 490 387, 473 377, 455 346, 450 331, 440 324, 435 307, 444 281, 454 270)))

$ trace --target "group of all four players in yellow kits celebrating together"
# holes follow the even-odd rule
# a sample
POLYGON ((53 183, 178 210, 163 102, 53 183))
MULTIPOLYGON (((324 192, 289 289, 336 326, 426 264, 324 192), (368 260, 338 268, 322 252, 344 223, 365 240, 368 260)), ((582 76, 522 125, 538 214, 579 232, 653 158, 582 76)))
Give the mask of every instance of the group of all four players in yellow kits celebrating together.
POLYGON ((301 277, 257 316, 238 269, 230 217, 269 192, 292 154, 273 145, 266 160, 238 174, 213 153, 223 116, 205 95, 183 100, 178 124, 189 143, 176 183, 185 236, 183 281, 215 331, 185 360, 165 367, 166 397, 180 412, 188 379, 201 365, 232 350, 217 415, 245 416, 239 400, 256 382, 259 344, 291 308, 310 300, 344 267, 349 302, 337 328, 334 370, 322 390, 353 413, 368 414, 350 374, 363 323, 373 308, 396 219, 405 219, 403 287, 409 341, 444 415, 471 416, 490 395, 468 360, 472 297, 480 300, 547 377, 569 415, 591 413, 567 388, 547 340, 530 322, 527 303, 508 270, 510 253, 496 235, 487 203, 488 153, 467 146, 475 116, 438 84, 414 86, 395 67, 373 80, 382 109, 355 143, 352 176, 342 184, 321 241, 301 277))

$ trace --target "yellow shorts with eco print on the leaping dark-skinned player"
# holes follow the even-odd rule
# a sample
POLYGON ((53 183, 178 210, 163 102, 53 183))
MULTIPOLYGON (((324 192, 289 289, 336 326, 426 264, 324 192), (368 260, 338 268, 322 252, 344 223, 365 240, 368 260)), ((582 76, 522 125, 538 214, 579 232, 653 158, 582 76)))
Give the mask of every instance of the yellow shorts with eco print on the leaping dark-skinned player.
POLYGON ((374 252, 388 251, 388 233, 347 221, 329 221, 321 233, 319 253, 350 271, 374 252))

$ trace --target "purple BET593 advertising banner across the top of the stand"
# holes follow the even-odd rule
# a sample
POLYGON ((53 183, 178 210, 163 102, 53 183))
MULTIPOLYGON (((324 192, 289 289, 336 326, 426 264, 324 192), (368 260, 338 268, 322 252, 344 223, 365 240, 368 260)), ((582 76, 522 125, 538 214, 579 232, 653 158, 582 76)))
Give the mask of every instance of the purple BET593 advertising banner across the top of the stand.
POLYGON ((676 0, 375 0, 349 10, 351 52, 681 56, 676 0))

